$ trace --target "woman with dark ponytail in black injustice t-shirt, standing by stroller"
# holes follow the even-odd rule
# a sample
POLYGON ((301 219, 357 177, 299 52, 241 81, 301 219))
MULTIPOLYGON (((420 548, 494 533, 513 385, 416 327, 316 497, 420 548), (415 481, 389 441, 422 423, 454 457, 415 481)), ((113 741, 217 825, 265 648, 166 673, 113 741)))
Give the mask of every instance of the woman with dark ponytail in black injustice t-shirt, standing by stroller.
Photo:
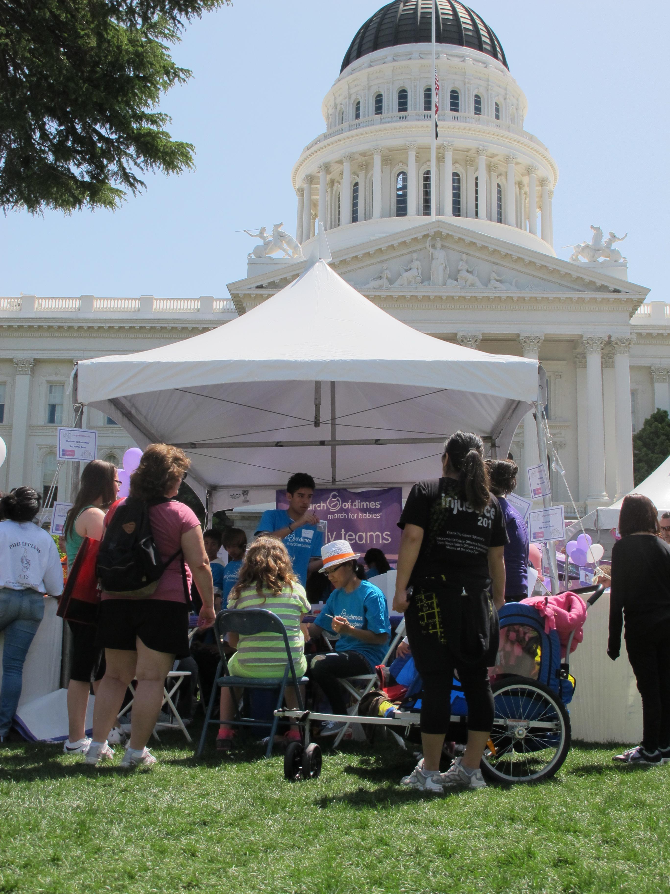
POLYGON ((423 680, 423 759, 402 782, 440 793, 481 789, 479 765, 493 725, 488 668, 498 652, 498 613, 505 602, 507 533, 490 492, 482 438, 456 432, 444 445, 442 477, 413 488, 403 528, 393 608, 405 612, 407 637, 423 680), (440 773, 456 670, 468 705, 465 755, 440 773))

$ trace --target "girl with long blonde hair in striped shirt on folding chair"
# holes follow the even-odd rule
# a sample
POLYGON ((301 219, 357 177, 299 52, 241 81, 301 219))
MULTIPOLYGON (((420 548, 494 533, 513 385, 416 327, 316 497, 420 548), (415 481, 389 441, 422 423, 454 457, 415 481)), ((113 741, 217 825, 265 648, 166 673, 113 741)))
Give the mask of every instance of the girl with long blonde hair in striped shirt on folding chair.
MULTIPOLYGON (((268 609, 276 614, 286 628, 293 666, 299 679, 305 674, 305 637, 301 622, 310 610, 305 587, 298 583, 293 573, 289 553, 276 537, 259 536, 249 546, 244 564, 239 569, 237 584, 230 591, 228 608, 268 609)), ((228 662, 228 672, 233 677, 265 677, 281 679, 286 670, 286 648, 277 633, 257 633, 250 637, 229 633, 228 641, 237 652, 228 662)), ((297 708, 297 698, 292 688, 286 690, 289 708, 297 708)), ((222 726, 216 740, 219 751, 232 745, 235 731, 226 721, 235 716, 235 705, 229 688, 221 690, 222 726)), ((297 725, 291 724, 289 740, 298 740, 297 725)))

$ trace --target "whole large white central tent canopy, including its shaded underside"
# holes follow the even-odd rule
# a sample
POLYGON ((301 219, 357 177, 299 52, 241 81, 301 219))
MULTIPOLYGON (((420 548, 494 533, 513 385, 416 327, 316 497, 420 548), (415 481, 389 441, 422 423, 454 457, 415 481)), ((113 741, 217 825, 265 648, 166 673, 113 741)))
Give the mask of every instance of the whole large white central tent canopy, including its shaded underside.
POLYGON ((417 332, 323 260, 211 332, 78 367, 78 400, 142 447, 179 445, 214 511, 242 488, 246 502, 273 500, 297 470, 356 488, 436 477, 458 428, 507 456, 537 399, 536 361, 417 332))

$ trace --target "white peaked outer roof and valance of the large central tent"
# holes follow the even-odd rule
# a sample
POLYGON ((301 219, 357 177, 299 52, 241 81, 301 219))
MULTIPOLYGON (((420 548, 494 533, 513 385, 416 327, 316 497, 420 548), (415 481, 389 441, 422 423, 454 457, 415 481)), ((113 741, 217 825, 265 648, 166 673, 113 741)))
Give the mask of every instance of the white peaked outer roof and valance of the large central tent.
POLYGON ((323 260, 257 308, 184 342, 79 367, 84 402, 157 387, 338 381, 448 386, 537 399, 533 360, 442 342, 401 323, 323 260))

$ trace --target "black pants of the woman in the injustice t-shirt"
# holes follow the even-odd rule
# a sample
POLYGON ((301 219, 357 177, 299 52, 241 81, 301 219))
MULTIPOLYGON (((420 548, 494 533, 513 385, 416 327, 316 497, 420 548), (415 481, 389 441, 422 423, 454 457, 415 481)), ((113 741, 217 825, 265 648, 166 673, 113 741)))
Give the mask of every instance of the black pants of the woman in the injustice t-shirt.
POLYGON ((467 701, 468 730, 490 730, 493 727, 493 695, 489 670, 485 664, 470 667, 456 661, 444 633, 445 624, 449 622, 450 597, 441 593, 439 587, 431 587, 431 590, 433 592, 415 587, 405 612, 409 646, 423 682, 421 731, 431 735, 448 732, 454 670, 467 701))

